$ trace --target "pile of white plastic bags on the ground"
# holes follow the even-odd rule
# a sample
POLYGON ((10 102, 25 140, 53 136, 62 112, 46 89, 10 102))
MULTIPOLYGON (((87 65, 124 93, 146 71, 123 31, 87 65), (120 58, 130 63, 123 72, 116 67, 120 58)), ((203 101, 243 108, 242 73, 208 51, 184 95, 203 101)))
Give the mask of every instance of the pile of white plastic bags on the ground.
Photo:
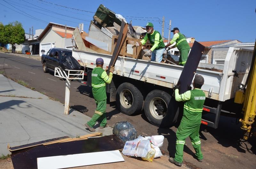
POLYGON ((160 157, 159 147, 164 143, 164 136, 139 136, 137 139, 125 142, 122 153, 125 156, 141 157, 143 160, 152 162, 154 158, 160 157))

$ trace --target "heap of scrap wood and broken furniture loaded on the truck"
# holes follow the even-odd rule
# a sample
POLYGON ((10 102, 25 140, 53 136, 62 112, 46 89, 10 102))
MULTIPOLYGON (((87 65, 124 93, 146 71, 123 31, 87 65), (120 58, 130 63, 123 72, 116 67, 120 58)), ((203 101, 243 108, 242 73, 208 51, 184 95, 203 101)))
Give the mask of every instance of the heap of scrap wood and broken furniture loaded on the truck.
MULTIPOLYGON (((114 49, 118 45, 118 37, 122 34, 122 21, 126 23, 120 14, 110 11, 101 4, 93 16, 89 32, 85 33, 78 28, 73 32, 76 48, 82 51, 113 55, 114 49)), ((144 54, 142 48, 149 48, 150 45, 132 48, 132 44, 140 42, 141 34, 146 33, 145 28, 131 24, 126 24, 125 27, 128 29, 127 37, 121 45, 119 56, 142 59, 144 54)))

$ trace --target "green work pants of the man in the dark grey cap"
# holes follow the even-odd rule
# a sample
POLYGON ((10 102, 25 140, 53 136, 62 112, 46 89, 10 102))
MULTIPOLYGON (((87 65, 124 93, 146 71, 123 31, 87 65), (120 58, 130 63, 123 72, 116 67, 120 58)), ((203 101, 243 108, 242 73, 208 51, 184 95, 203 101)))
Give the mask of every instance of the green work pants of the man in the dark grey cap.
POLYGON ((201 152, 201 141, 199 139, 199 129, 201 124, 186 124, 180 123, 178 130, 176 132, 176 152, 174 160, 182 163, 183 162, 183 148, 185 144, 185 139, 189 136, 191 143, 196 151, 197 159, 203 159, 203 154, 201 152))

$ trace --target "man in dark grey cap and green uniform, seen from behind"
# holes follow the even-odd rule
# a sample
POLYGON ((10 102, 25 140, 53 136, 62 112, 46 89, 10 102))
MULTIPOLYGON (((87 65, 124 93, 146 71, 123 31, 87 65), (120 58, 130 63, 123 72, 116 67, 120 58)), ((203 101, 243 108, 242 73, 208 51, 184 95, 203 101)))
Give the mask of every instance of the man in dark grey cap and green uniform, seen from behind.
POLYGON ((183 147, 185 139, 189 136, 191 143, 196 151, 196 158, 199 162, 203 162, 203 154, 201 152, 201 141, 199 139, 199 129, 201 125, 202 111, 205 100, 205 94, 201 90, 204 84, 204 77, 196 74, 193 81, 193 90, 189 90, 183 94, 179 94, 179 86, 174 87, 175 100, 184 101, 183 116, 180 126, 176 132, 176 153, 175 158, 169 158, 171 163, 181 166, 183 162, 183 147))

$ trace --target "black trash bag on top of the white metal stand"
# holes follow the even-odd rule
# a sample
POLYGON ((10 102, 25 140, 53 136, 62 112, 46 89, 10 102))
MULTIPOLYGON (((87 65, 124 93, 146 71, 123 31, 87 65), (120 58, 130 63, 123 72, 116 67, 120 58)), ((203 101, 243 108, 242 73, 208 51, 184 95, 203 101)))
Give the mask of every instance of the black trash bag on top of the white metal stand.
POLYGON ((65 58, 59 62, 59 67, 61 67, 63 70, 65 69, 80 70, 81 69, 81 65, 71 55, 65 56, 65 58))

